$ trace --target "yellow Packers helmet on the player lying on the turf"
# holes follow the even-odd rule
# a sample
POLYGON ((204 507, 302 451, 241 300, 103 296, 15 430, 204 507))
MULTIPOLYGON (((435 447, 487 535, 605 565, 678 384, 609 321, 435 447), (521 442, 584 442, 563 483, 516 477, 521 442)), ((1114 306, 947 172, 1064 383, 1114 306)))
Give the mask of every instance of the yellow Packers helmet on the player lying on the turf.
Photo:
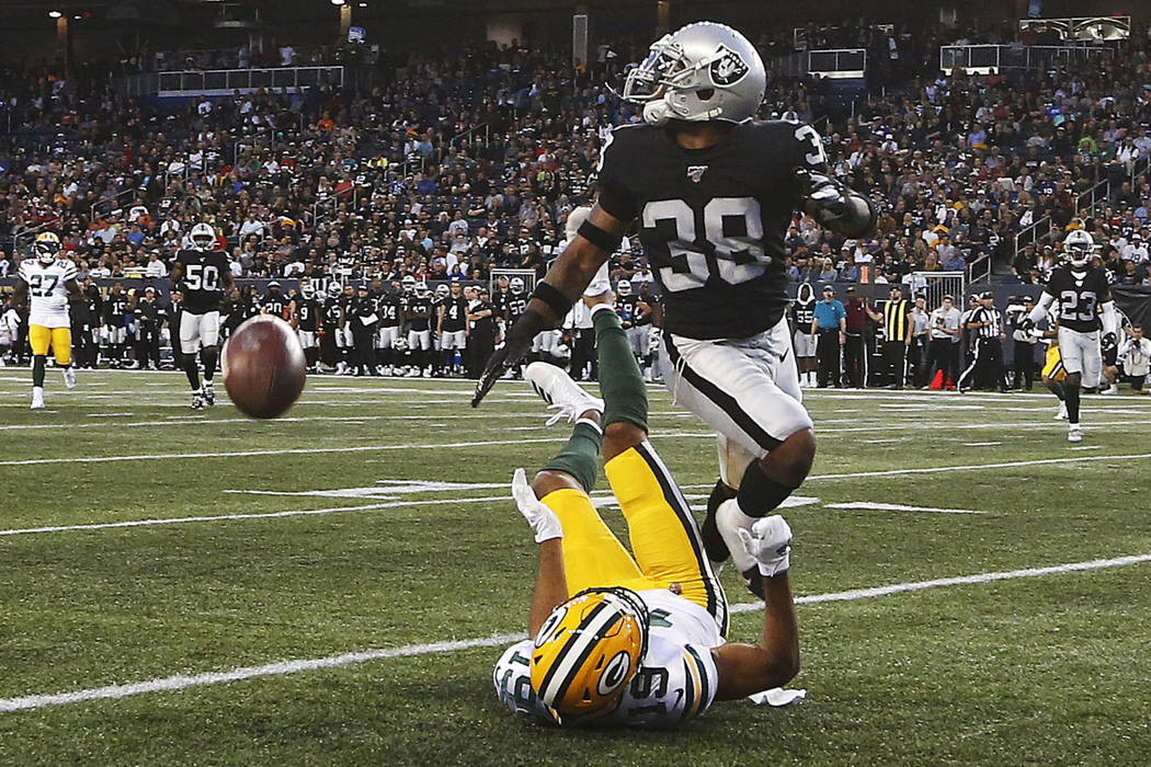
POLYGON ((532 650, 532 689, 565 724, 619 705, 643 661, 648 611, 630 589, 587 589, 551 611, 532 650))

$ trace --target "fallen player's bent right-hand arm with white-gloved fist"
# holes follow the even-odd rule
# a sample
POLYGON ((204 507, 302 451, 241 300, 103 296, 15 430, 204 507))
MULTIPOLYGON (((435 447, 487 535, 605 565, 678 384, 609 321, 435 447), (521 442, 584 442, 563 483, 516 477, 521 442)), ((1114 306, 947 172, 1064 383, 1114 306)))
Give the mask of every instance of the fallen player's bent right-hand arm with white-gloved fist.
POLYGON ((716 700, 742 698, 786 684, 799 673, 799 624, 792 601, 791 528, 778 514, 739 530, 747 553, 760 566, 767 613, 759 646, 725 644, 712 651, 719 670, 716 700))

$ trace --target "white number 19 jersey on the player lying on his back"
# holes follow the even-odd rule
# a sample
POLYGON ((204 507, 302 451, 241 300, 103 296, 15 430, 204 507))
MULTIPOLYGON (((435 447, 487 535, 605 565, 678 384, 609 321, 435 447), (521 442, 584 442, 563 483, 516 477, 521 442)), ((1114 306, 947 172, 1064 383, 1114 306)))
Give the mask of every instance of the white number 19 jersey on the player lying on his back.
MULTIPOLYGON (((664 589, 640 591, 650 616, 648 650, 619 707, 597 720, 632 727, 674 727, 707 711, 719 673, 711 649, 724 643, 706 609, 664 589)), ((508 647, 493 681, 513 713, 554 723, 532 690, 532 639, 508 647)))

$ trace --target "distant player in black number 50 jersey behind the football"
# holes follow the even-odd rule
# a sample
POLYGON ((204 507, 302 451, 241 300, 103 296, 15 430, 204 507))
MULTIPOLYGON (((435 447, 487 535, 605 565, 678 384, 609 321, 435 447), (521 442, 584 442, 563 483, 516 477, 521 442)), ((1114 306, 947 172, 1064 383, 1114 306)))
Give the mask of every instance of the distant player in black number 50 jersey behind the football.
POLYGON ((192 409, 203 411, 215 404, 212 379, 215 377, 220 339, 220 301, 231 290, 228 256, 215 250, 216 233, 208 224, 198 223, 189 235, 191 250, 180 251, 168 274, 173 287, 184 294, 184 312, 180 317, 180 347, 184 353, 184 373, 192 388, 192 409), (196 351, 204 363, 204 389, 196 368, 196 351))

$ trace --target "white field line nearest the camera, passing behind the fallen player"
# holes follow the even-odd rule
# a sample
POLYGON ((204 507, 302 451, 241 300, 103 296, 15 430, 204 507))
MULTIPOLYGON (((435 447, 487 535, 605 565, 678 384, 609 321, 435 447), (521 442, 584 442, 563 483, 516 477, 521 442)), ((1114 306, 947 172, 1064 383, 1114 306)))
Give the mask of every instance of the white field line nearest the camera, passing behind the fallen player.
MULTIPOLYGON (((1119 557, 1115 559, 1093 559, 1085 562, 1070 562, 1067 565, 1054 565, 1051 567, 1032 567, 1020 570, 1006 570, 999 573, 980 573, 977 575, 963 575, 951 578, 935 578, 931 581, 917 581, 912 583, 894 583, 885 586, 874 586, 870 589, 852 589, 849 591, 832 591, 830 593, 810 595, 795 599, 798 605, 817 605, 828 601, 852 601, 856 599, 874 599, 886 597, 893 593, 907 591, 922 591, 924 589, 938 589, 942 586, 970 585, 980 583, 991 583, 993 581, 1007 581, 1013 578, 1034 578, 1044 575, 1058 575, 1062 573, 1081 573, 1087 570, 1100 570, 1111 567, 1125 567, 1151 561, 1151 554, 1139 554, 1131 557, 1119 557)), ((763 609, 762 604, 741 603, 731 606, 732 613, 750 613, 763 609)), ((116 698, 128 698, 150 692, 171 692, 175 690, 186 690, 193 687, 207 684, 224 684, 238 682, 258 676, 282 676, 284 674, 297 674, 299 672, 312 672, 321 668, 336 668, 338 666, 351 666, 373 660, 388 658, 410 658, 413 655, 441 654, 456 652, 459 650, 472 650, 477 647, 498 647, 512 642, 523 639, 524 634, 497 634, 489 637, 475 639, 459 639, 452 642, 434 642, 430 644, 410 644, 387 650, 365 650, 361 652, 349 652, 327 658, 312 658, 305 660, 281 660, 265 666, 245 666, 230 672, 209 672, 207 674, 196 674, 188 676, 177 674, 162 678, 148 680, 146 682, 131 682, 128 684, 109 684, 101 688, 90 688, 87 690, 76 690, 74 692, 58 692, 55 695, 30 695, 21 698, 0 698, 0 713, 12 711, 29 711, 45 708, 48 706, 62 706, 73 703, 85 703, 89 700, 107 700, 116 698)))

